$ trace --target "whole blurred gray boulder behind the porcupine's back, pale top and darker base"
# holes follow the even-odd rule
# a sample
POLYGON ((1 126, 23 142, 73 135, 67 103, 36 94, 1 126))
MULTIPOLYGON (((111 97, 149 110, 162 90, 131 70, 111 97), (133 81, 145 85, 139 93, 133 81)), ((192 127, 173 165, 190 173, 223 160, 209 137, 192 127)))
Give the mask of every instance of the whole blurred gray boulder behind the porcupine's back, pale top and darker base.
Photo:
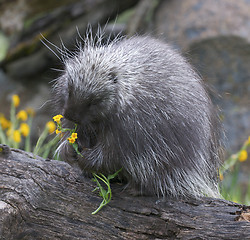
POLYGON ((250 135, 250 1, 162 1, 155 29, 221 96, 227 149, 238 150, 250 135))

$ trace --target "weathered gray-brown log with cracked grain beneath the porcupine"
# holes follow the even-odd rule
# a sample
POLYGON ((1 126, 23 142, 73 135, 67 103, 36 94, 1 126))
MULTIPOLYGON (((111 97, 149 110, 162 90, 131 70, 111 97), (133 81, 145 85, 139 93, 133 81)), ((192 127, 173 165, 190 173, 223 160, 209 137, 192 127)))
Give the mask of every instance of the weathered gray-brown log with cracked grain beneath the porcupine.
POLYGON ((101 198, 65 162, 0 145, 0 239, 250 239, 250 207, 222 199, 101 198))

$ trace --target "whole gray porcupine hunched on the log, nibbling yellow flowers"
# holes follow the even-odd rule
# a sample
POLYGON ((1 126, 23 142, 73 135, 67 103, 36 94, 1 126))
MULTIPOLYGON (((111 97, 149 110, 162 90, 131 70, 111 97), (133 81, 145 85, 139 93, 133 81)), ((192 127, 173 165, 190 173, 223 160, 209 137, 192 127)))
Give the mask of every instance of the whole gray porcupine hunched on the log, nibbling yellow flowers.
POLYGON ((83 172, 119 174, 142 194, 218 197, 218 118, 187 60, 151 37, 92 37, 54 85, 64 126, 77 123, 82 157, 62 140, 61 158, 83 172), (100 40, 100 39, 99 39, 100 40))

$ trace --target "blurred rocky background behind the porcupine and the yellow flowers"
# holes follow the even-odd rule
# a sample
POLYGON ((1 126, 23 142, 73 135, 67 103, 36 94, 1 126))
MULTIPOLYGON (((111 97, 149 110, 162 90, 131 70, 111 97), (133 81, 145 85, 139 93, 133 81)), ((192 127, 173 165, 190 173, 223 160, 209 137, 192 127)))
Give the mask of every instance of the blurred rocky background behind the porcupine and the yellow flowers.
MULTIPOLYGON (((221 110, 226 157, 241 149, 250 136, 249 0, 0 0, 2 114, 8 116, 17 94, 20 109, 36 112, 32 138, 41 133, 58 114, 48 100, 51 81, 59 74, 54 69, 62 69, 42 36, 73 50, 77 29, 84 36, 89 24, 94 31, 105 26, 107 35, 152 35, 182 52, 221 110)), ((237 184, 250 193, 249 160, 239 169, 237 184)))

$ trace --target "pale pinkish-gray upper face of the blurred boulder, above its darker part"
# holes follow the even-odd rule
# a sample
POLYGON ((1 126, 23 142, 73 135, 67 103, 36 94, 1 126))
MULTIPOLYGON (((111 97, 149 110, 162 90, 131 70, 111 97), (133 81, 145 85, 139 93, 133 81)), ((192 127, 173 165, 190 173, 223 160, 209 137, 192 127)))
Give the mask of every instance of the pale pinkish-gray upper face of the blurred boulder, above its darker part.
POLYGON ((250 1, 162 1, 155 16, 156 34, 182 50, 188 50, 196 41, 218 36, 239 36, 250 41, 250 1))

